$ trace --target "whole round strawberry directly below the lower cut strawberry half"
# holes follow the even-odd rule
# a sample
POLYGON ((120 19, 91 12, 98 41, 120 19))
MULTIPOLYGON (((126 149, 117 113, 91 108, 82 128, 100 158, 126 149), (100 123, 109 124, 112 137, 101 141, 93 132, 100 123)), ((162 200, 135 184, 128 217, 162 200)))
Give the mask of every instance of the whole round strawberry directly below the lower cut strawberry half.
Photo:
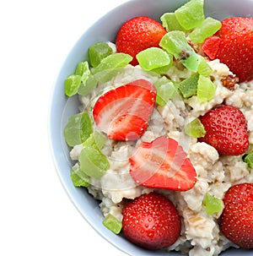
POLYGON ((122 210, 126 238, 148 249, 169 247, 180 236, 180 216, 174 204, 159 193, 143 194, 122 210))

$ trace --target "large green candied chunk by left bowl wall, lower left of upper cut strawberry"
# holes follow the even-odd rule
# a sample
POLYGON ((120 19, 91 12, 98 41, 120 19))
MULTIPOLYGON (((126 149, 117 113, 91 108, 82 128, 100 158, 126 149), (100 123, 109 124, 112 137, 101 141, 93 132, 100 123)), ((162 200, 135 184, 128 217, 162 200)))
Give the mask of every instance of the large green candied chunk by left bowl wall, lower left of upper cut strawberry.
POLYGON ((64 138, 66 143, 73 147, 82 144, 93 132, 88 112, 78 113, 69 117, 64 128, 64 138))

